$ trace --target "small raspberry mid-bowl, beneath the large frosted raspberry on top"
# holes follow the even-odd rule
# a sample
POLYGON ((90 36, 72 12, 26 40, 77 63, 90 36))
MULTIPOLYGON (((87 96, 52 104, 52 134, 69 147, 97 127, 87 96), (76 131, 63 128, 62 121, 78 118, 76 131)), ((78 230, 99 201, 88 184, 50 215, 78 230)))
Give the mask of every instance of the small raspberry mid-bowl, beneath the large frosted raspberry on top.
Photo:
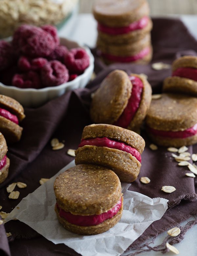
POLYGON ((29 70, 40 70, 46 63, 47 60, 45 58, 30 59, 22 56, 18 60, 18 67, 24 72, 29 70))

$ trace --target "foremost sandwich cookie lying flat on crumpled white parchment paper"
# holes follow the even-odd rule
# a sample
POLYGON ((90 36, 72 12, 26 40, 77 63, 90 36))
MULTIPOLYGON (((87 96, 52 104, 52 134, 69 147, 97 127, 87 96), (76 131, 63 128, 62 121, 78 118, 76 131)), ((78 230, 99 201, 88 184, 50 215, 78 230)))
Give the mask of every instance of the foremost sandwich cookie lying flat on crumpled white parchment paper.
POLYGON ((103 233, 121 218, 121 184, 109 169, 96 165, 72 167, 55 179, 54 191, 57 218, 71 232, 103 233))

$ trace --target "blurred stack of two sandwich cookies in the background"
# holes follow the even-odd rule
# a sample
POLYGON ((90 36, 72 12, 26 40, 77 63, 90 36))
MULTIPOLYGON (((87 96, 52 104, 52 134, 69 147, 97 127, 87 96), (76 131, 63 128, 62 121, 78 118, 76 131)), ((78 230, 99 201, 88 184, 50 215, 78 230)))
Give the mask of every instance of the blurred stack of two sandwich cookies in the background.
POLYGON ((105 63, 148 63, 152 57, 152 21, 146 0, 97 0, 97 48, 105 63))

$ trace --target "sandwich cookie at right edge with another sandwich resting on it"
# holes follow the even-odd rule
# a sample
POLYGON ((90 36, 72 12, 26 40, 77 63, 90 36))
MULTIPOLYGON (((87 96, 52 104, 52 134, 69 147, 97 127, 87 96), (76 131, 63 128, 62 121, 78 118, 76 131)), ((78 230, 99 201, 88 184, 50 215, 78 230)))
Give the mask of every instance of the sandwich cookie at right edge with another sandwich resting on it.
POLYGON ((158 145, 181 147, 197 143, 197 98, 162 94, 146 116, 147 133, 158 145))

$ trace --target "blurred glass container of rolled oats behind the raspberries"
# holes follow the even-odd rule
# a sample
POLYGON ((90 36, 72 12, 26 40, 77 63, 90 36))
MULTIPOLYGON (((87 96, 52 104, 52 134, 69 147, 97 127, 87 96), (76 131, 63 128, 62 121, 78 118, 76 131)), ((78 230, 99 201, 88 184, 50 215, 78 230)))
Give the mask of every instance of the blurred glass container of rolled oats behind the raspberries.
POLYGON ((0 39, 11 36, 22 24, 51 24, 60 29, 77 5, 78 0, 1 0, 0 39))

